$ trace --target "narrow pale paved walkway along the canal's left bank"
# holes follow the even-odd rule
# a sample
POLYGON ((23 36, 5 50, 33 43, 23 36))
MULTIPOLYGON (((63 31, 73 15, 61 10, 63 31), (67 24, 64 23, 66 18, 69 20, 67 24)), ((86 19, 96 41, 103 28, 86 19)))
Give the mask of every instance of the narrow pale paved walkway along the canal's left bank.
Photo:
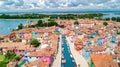
POLYGON ((59 42, 59 47, 58 47, 58 54, 56 55, 56 59, 54 60, 54 62, 53 62, 53 65, 52 65, 52 67, 61 67, 61 55, 62 55, 62 40, 61 40, 61 38, 62 38, 62 36, 60 35, 59 36, 60 37, 60 42, 59 42))

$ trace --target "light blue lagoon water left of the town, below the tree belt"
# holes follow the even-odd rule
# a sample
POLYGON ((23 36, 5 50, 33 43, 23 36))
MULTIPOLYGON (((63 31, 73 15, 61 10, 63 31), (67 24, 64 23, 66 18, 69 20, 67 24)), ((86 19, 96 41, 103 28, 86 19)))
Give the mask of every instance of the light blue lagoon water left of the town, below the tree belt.
MULTIPOLYGON (((34 19, 32 21, 37 22, 37 19, 34 19)), ((0 19, 0 35, 10 34, 10 32, 13 29, 16 29, 20 23, 27 24, 27 19, 0 19)))

